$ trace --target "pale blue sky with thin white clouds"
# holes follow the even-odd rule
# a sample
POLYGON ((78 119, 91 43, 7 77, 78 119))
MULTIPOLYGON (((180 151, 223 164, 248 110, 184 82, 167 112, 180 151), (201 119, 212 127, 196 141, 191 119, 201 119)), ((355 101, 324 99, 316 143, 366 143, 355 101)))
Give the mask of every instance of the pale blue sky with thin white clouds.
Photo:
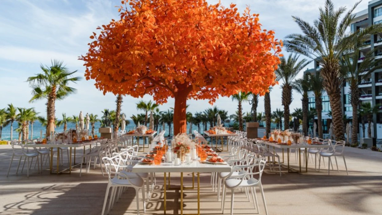
MULTIPOLYGON (((350 8, 358 0, 333 0, 335 6, 350 8)), ((215 4, 218 0, 208 0, 215 4)), ((224 6, 237 4, 239 11, 249 5, 253 13, 259 13, 264 29, 273 29, 278 39, 287 34, 300 32, 293 22, 292 15, 299 16, 312 23, 317 18, 318 8, 324 0, 222 0, 224 6)), ((364 10, 367 1, 361 2, 356 11, 364 10)), ((83 61, 78 56, 87 52, 89 36, 97 26, 107 24, 111 19, 118 19, 115 6, 120 0, 0 0, 0 108, 8 103, 17 107, 35 107, 40 115, 45 116, 45 101, 28 103, 31 89, 26 81, 29 76, 40 73, 40 64, 50 65, 51 59, 64 61, 70 70, 78 70, 83 77, 83 61)), ((287 55, 287 53, 284 52, 287 55)), ((308 67, 312 67, 309 65, 308 67)), ((302 75, 302 72, 300 76, 302 75)), ((115 108, 115 96, 103 95, 94 87, 94 81, 84 78, 78 84, 72 84, 78 93, 65 100, 56 102, 56 116, 61 113, 78 115, 95 113, 100 115, 104 108, 115 108)), ((143 100, 150 100, 145 96, 143 100)), ((293 93, 291 110, 301 107, 300 95, 293 93)), ((126 96, 122 111, 128 116, 138 113, 135 103, 140 99, 126 96)), ((258 111, 264 110, 264 100, 259 99, 258 111)), ((160 107, 167 110, 174 101, 160 107)), ((195 113, 208 107, 206 100, 189 100, 188 111, 195 113)), ((220 108, 235 113, 236 102, 230 98, 219 98, 215 103, 220 108)), ((281 89, 275 86, 271 92, 272 110, 283 108, 281 89)), ((250 111, 248 103, 243 105, 244 112, 250 111)))

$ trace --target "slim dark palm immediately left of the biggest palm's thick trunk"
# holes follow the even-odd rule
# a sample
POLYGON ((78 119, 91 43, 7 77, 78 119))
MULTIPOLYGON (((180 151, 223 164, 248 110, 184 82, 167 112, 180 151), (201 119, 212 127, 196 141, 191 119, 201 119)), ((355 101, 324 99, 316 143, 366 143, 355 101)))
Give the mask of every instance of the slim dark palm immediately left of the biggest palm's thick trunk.
POLYGON ((322 77, 319 72, 309 74, 310 90, 314 92, 314 102, 316 103, 318 137, 322 139, 322 77))

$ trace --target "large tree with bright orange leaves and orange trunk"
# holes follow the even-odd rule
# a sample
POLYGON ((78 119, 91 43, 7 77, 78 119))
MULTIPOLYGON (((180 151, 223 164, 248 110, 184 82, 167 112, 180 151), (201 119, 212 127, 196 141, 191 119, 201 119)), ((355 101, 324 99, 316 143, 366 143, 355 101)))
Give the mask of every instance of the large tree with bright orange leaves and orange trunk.
POLYGON ((175 98, 174 134, 186 132, 187 99, 242 92, 264 95, 276 84, 281 42, 249 8, 240 14, 206 0, 122 1, 120 19, 98 27, 80 57, 86 79, 114 94, 175 98))

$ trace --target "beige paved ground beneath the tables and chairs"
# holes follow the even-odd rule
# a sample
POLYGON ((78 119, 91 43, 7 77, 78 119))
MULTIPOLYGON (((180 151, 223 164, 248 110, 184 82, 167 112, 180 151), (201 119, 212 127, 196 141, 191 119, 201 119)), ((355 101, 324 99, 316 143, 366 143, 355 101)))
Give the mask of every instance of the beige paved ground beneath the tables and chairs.
MULTIPOLYGON (((262 182, 269 214, 382 214, 382 153, 354 148, 346 148, 345 153, 348 176, 341 159, 338 159, 341 171, 333 171, 330 176, 326 168, 320 173, 314 171, 312 163, 309 163, 309 173, 286 173, 286 168, 283 168, 280 177, 267 170, 262 182)), ((15 174, 18 162, 15 160, 10 176, 6 178, 10 157, 10 146, 0 145, 0 215, 101 213, 107 178, 100 174, 99 167, 81 178, 78 168, 72 175, 50 175, 46 166, 41 175, 37 173, 37 168, 32 167, 27 178, 25 170, 15 174)), ((172 184, 179 184, 179 175, 172 174, 171 177, 172 184)), ((162 182, 163 175, 157 174, 157 189, 147 203, 145 214, 163 214, 162 182)), ((221 214, 221 203, 216 200, 216 193, 211 191, 209 182, 209 175, 202 174, 201 214, 221 214)), ((191 184, 190 176, 185 178, 185 183, 191 184)), ((168 191, 167 195, 168 214, 180 214, 179 191, 168 191)), ((225 214, 230 212, 229 196, 227 193, 225 214)), ((260 212, 254 210, 253 203, 246 199, 245 194, 236 192, 234 214, 265 214, 259 192, 257 196, 260 212)), ((134 197, 134 191, 127 190, 110 214, 136 214, 134 197)), ((185 213, 196 213, 196 190, 185 192, 184 207, 185 213)))

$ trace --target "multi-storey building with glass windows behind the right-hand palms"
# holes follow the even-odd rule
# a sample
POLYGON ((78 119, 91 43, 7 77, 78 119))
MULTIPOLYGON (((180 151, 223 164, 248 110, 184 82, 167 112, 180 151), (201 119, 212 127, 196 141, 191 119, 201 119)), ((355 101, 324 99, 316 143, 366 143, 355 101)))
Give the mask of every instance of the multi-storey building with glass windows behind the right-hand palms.
MULTIPOLYGON (((373 24, 382 23, 382 0, 370 1, 368 7, 362 11, 355 14, 353 23, 351 23, 351 32, 366 28, 373 24)), ((365 42, 365 47, 361 48, 358 63, 362 62, 366 53, 374 50, 375 59, 382 58, 382 34, 372 35, 370 40, 365 42)), ((314 61, 314 68, 306 70, 306 73, 316 73, 320 71, 320 64, 317 60, 314 61)), ((360 100, 362 103, 370 102, 372 106, 376 104, 382 104, 382 69, 376 70, 369 74, 367 77, 361 80, 359 84, 361 89, 360 100)), ((347 82, 342 86, 342 105, 343 113, 350 120, 352 117, 353 108, 350 103, 350 87, 347 82)), ((309 108, 315 108, 314 103, 314 93, 309 92, 309 108)), ((329 124, 331 122, 331 117, 328 115, 330 113, 330 103, 329 97, 326 92, 322 95, 322 124, 323 133, 328 133, 329 124)), ((317 118, 316 118, 317 120, 317 118)), ((365 137, 367 137, 367 122, 365 122, 365 137)), ((310 129, 312 129, 312 122, 310 129)), ((358 125, 359 136, 363 137, 361 124, 358 125)), ((372 136, 377 137, 377 139, 382 139, 382 110, 373 116, 372 123, 372 136)))

